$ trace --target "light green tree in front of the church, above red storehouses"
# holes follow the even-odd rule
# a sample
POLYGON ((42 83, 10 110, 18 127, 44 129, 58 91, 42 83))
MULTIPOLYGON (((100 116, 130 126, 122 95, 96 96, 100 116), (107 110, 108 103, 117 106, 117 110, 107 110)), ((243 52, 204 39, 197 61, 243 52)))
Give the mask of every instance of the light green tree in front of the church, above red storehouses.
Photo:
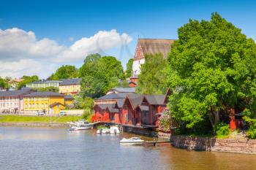
POLYGON ((167 90, 167 60, 162 54, 146 55, 141 66, 136 91, 142 94, 163 94, 167 90))

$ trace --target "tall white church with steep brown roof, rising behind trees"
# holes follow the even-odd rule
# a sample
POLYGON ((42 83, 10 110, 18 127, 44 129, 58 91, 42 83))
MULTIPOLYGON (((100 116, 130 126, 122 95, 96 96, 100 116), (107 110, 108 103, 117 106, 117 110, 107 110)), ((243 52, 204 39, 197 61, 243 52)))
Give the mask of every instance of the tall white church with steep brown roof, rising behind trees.
POLYGON ((164 58, 167 58, 167 54, 170 52, 170 45, 175 41, 175 39, 138 39, 132 63, 131 85, 129 87, 137 85, 140 66, 145 63, 145 55, 162 53, 164 58))

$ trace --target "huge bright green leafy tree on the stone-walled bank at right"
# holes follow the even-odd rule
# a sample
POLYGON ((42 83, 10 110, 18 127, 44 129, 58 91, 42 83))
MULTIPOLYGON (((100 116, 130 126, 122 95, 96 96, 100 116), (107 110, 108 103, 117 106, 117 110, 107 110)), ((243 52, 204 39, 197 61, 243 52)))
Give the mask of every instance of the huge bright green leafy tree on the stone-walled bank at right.
POLYGON ((178 28, 168 60, 174 90, 169 107, 187 128, 204 117, 214 125, 230 108, 255 109, 255 42, 217 13, 178 28))

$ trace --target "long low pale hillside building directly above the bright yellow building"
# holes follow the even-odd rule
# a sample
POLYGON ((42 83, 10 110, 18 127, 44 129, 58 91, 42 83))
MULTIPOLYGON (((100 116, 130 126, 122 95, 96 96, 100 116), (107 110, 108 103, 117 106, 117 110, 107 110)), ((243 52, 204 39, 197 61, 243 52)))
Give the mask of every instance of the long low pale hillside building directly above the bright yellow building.
POLYGON ((61 80, 39 80, 36 82, 29 82, 28 84, 26 84, 26 88, 59 88, 59 84, 61 82, 61 80))

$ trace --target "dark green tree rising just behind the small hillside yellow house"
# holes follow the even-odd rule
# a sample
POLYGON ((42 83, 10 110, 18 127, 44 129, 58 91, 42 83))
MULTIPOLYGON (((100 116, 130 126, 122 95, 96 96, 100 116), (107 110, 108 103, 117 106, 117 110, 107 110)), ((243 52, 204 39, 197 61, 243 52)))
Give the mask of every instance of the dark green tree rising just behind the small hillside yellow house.
POLYGON ((61 79, 71 79, 78 77, 78 69, 75 66, 65 65, 59 67, 55 73, 51 74, 50 80, 61 80, 61 79))

